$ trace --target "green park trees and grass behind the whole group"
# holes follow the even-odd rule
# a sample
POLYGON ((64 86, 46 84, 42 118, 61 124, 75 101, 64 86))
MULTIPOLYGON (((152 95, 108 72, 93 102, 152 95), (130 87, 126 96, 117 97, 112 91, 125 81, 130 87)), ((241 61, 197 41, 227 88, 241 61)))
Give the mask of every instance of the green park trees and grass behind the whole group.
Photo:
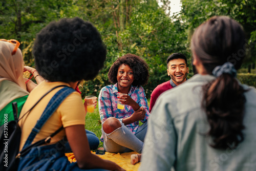
MULTIPOLYGON (((195 28, 214 15, 237 20, 246 33, 245 55, 238 79, 256 87, 256 1, 250 0, 0 0, 0 38, 20 41, 25 64, 34 67, 34 38, 52 20, 80 17, 90 21, 101 33, 108 50, 104 68, 94 80, 83 81, 82 98, 98 96, 110 84, 108 71, 113 62, 126 53, 141 56, 150 72, 143 86, 148 101, 154 88, 167 80, 166 58, 175 52, 186 55, 193 76, 189 42, 195 28)), ((86 117, 86 128, 100 137, 98 110, 86 117)), ((100 144, 102 145, 102 144, 100 144)))

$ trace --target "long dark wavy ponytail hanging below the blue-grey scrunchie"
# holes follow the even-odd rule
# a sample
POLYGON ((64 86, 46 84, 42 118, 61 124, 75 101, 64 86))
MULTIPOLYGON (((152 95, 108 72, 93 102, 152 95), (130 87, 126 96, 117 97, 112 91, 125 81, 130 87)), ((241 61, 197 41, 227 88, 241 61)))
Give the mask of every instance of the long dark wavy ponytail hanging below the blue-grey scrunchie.
POLYGON ((203 87, 205 109, 214 148, 235 148, 243 141, 245 90, 230 74, 222 74, 203 87))

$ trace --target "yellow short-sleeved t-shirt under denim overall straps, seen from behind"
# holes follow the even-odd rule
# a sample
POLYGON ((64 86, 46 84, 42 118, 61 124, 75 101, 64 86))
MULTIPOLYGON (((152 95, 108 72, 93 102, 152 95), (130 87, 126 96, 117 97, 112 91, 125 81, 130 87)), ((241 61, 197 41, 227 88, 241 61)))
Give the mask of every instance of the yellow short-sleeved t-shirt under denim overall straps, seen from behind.
MULTIPOLYGON (((21 118, 38 100, 50 89, 59 86, 67 85, 65 82, 41 82, 28 96, 27 101, 25 102, 22 112, 20 112, 19 118, 21 118)), ((54 94, 62 89, 63 87, 56 88, 35 106, 35 108, 24 116, 20 121, 19 125, 22 130, 22 137, 20 138, 19 149, 21 150, 31 133, 33 127, 35 126, 37 120, 40 118, 41 114, 44 112, 48 102, 54 96, 54 94)), ((40 132, 36 135, 33 142, 47 138, 56 130, 58 130, 62 125, 63 127, 72 126, 72 125, 84 125, 86 118, 86 111, 81 99, 81 95, 78 92, 71 93, 62 103, 59 105, 58 109, 52 114, 52 116, 46 121, 42 126, 40 132)), ((65 136, 65 130, 62 130, 60 133, 55 135, 50 144, 54 144, 60 141, 65 136)))

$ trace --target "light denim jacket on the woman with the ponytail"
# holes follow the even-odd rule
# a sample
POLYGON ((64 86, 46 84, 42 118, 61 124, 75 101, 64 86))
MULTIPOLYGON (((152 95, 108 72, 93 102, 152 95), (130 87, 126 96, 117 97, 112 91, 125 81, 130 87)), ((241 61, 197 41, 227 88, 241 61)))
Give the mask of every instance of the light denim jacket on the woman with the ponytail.
POLYGON ((236 149, 215 149, 205 134, 209 130, 201 108, 202 86, 215 79, 197 74, 180 86, 161 94, 148 119, 141 170, 255 170, 256 90, 246 97, 244 141, 236 149))

